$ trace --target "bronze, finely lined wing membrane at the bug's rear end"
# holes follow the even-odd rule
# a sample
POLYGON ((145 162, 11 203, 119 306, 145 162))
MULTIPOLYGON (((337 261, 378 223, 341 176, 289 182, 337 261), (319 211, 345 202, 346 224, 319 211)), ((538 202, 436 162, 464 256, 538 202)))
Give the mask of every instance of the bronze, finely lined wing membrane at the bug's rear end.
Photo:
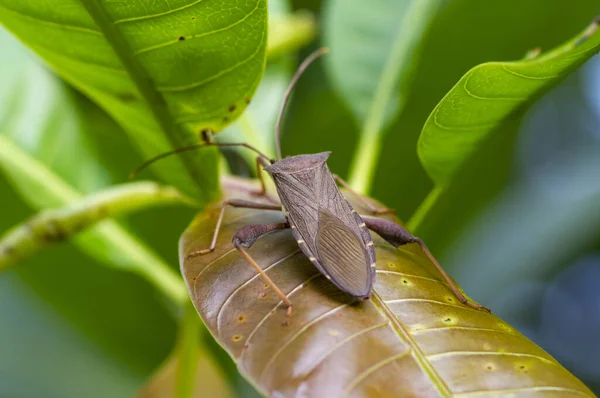
POLYGON ((373 279, 362 239, 325 208, 319 209, 316 248, 325 275, 340 289, 356 297, 371 294, 373 279))

